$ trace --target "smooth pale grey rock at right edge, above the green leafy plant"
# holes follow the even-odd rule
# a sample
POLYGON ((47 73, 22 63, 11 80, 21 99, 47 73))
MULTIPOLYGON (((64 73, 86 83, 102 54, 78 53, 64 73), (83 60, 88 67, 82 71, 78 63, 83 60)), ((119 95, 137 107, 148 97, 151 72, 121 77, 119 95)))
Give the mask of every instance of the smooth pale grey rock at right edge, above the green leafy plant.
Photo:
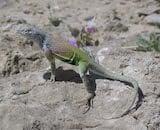
POLYGON ((160 14, 151 14, 144 18, 148 24, 160 24, 160 14))

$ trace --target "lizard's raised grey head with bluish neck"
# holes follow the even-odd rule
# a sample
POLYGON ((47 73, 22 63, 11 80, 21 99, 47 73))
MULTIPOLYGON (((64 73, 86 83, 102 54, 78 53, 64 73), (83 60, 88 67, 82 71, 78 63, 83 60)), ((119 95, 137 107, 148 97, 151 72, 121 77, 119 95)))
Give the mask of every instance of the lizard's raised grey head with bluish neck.
POLYGON ((28 24, 19 25, 16 29, 16 32, 39 43, 40 46, 46 38, 46 35, 42 30, 28 24))

